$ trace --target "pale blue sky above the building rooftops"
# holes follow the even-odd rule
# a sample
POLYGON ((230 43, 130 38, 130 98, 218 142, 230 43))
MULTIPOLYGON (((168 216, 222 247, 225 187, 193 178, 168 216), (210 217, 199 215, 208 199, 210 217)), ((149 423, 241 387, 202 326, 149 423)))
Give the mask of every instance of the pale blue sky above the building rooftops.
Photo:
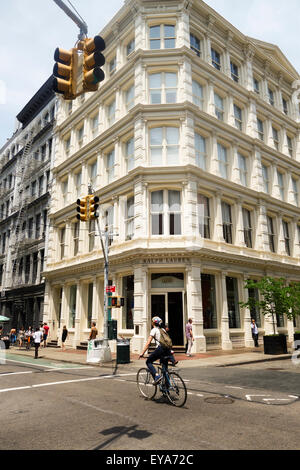
MULTIPOLYGON (((71 1, 87 23, 91 37, 124 5, 124 0, 71 1)), ((300 0, 206 3, 243 34, 279 46, 300 72, 300 0)), ((0 0, 0 6, 1 148, 15 130, 16 115, 52 74, 54 50, 72 48, 79 30, 53 0, 0 0)))

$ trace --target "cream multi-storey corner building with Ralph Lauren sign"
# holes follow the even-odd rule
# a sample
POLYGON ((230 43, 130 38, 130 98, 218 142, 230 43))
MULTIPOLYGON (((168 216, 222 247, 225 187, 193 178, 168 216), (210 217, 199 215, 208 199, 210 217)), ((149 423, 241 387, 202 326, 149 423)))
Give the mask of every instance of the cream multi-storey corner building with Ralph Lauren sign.
POLYGON ((251 316, 272 325, 245 280, 300 280, 299 75, 200 0, 128 0, 100 35, 105 81, 57 115, 44 319, 73 346, 103 333, 101 244, 76 219, 92 183, 132 351, 154 314, 178 347, 189 317, 194 352, 252 346, 251 316))

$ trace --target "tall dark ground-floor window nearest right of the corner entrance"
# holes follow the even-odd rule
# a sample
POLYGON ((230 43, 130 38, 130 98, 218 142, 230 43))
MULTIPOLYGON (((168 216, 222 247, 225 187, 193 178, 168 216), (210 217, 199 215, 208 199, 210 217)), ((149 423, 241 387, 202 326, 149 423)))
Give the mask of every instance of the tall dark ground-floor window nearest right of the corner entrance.
POLYGON ((204 329, 217 328, 215 276, 201 274, 202 308, 204 329))

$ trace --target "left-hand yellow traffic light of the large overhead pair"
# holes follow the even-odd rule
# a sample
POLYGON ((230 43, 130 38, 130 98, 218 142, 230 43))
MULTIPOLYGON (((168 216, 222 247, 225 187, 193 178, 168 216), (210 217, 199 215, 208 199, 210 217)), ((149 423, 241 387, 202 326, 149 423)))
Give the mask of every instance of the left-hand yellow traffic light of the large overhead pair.
POLYGON ((70 51, 57 47, 54 52, 53 90, 61 93, 65 100, 74 100, 77 91, 77 49, 70 51))

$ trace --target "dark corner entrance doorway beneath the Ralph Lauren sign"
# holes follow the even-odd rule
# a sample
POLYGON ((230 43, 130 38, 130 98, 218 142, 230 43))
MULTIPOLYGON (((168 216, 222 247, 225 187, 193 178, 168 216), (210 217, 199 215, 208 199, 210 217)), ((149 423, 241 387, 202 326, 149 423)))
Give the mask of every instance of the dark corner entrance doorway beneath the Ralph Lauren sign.
POLYGON ((183 346, 182 292, 151 295, 151 318, 158 316, 170 330, 174 346, 183 346))

